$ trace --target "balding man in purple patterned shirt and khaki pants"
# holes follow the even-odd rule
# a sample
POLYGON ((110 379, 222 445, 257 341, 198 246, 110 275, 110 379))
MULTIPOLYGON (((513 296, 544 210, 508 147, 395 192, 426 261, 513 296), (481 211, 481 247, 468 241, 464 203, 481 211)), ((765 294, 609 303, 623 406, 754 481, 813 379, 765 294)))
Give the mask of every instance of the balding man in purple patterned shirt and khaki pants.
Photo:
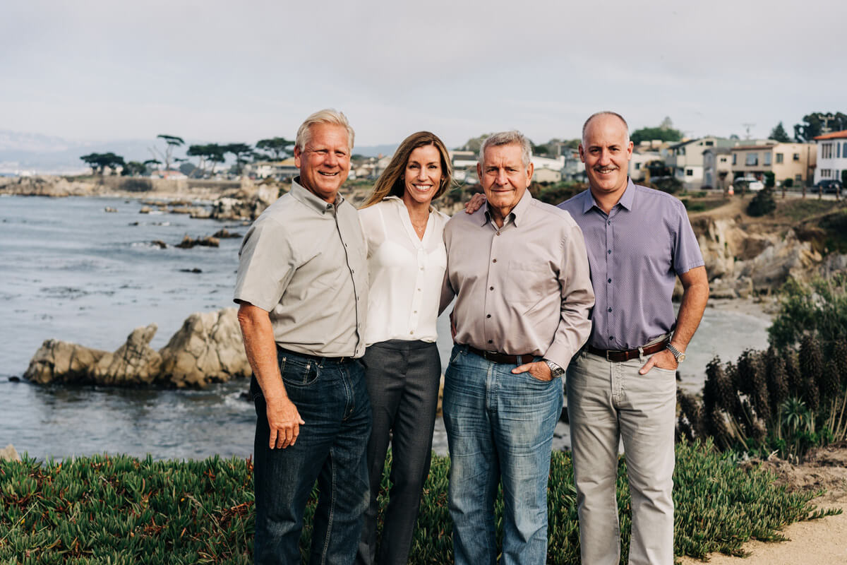
POLYGON ((632 151, 623 117, 592 115, 579 145, 590 190, 559 205, 583 231, 596 296, 588 345, 567 370, 567 411, 582 562, 619 562, 615 485, 623 439, 629 563, 670 565, 675 374, 709 285, 683 203, 628 178, 632 151), (674 315, 677 276, 684 293, 674 315))

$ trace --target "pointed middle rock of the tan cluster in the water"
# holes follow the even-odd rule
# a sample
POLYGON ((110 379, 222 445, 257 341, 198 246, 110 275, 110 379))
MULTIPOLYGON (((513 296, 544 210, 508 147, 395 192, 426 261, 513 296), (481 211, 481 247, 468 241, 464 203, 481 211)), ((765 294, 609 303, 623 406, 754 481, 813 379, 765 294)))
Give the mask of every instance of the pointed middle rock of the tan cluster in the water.
POLYGON ((162 356, 150 347, 158 326, 136 328, 126 343, 102 356, 90 371, 98 385, 149 385, 158 377, 162 356))

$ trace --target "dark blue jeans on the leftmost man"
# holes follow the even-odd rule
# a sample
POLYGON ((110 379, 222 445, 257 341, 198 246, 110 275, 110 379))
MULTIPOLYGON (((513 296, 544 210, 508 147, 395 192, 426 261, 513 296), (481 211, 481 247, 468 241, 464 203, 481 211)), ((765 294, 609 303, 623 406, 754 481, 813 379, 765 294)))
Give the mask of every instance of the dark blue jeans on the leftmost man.
POLYGON ((270 449, 265 400, 255 376, 256 541, 254 562, 299 563, 303 510, 318 481, 309 563, 349 565, 356 556, 368 507, 365 448, 371 408, 362 366, 279 351, 277 360, 301 418, 293 446, 270 449))

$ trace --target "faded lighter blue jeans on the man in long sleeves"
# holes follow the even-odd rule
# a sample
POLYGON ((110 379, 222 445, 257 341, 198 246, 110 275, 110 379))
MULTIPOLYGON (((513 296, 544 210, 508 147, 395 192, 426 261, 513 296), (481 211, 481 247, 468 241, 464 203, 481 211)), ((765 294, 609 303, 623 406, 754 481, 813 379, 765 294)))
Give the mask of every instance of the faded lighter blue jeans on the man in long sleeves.
POLYGON ((548 382, 515 365, 492 363, 454 346, 444 381, 450 446, 450 515, 457 565, 493 565, 494 502, 503 485, 501 563, 543 564, 547 479, 562 379, 548 382))

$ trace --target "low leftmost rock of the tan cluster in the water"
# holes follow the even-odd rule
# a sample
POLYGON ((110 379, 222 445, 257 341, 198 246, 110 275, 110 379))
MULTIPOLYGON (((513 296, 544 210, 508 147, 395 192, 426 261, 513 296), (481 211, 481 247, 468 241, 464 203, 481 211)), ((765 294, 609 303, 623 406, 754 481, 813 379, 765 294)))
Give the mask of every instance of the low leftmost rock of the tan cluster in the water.
POLYGON ((45 340, 30 360, 24 378, 39 385, 86 382, 90 369, 109 352, 60 340, 45 340))

